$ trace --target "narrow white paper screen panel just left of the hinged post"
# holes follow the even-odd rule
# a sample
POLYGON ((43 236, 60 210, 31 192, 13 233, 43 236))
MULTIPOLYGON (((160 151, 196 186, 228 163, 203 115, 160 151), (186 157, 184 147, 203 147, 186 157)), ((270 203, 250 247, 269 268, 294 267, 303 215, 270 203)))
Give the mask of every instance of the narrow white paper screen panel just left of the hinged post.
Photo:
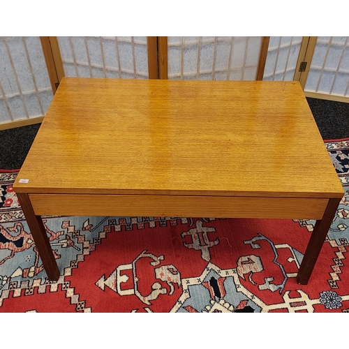
POLYGON ((263 80, 293 80, 302 36, 271 36, 263 80))

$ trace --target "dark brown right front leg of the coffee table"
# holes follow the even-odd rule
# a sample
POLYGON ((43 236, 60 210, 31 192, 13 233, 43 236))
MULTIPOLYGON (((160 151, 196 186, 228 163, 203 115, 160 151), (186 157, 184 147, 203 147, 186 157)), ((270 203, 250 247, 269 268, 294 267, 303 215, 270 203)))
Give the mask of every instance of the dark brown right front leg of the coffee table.
POLYGON ((322 219, 315 223, 314 230, 311 233, 306 252, 304 253, 304 258, 297 274, 297 283, 299 283, 299 285, 306 285, 309 281, 315 262, 318 259, 322 245, 325 242, 327 232, 331 227, 336 210, 338 209, 339 202, 341 202, 341 199, 329 199, 322 219))

